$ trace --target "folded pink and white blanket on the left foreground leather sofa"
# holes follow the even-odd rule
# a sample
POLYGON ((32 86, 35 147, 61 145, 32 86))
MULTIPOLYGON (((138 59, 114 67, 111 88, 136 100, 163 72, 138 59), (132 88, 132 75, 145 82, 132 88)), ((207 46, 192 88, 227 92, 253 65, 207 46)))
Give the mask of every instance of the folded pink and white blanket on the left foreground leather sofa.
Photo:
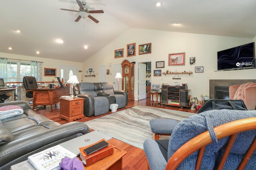
POLYGON ((0 107, 0 120, 21 114, 23 114, 23 109, 20 106, 8 105, 0 107))

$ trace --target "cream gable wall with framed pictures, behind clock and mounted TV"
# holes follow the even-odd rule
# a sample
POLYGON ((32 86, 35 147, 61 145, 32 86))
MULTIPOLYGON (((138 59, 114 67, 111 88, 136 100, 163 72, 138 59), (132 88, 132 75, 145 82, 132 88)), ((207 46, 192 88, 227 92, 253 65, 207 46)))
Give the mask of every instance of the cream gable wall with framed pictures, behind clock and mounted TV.
MULTIPOLYGON (((148 29, 129 29, 114 41, 109 43, 106 47, 98 51, 90 59, 84 61, 83 72, 89 68, 93 68, 96 77, 83 77, 84 82, 98 82, 99 65, 106 65, 110 69, 110 75, 106 75, 106 81, 112 82, 112 66, 108 63, 120 64, 123 60, 127 59, 130 62, 152 61, 152 70, 156 70, 156 61, 165 61, 165 68, 162 72, 166 71, 192 71, 193 74, 179 74, 181 80, 173 80, 173 74, 162 75, 159 77, 152 76, 152 83, 168 83, 180 84, 187 83, 188 88, 191 89, 190 95, 197 97, 199 100, 201 94, 209 95, 209 80, 210 79, 256 79, 254 69, 250 70, 233 70, 233 71, 220 71, 217 72, 217 51, 250 43, 256 40, 238 38, 238 37, 224 37, 216 35, 202 35, 192 33, 178 33, 169 31, 156 31, 148 29), (136 43, 136 56, 126 57, 126 45, 136 43), (145 55, 138 55, 138 45, 152 43, 152 53, 145 55), (124 48, 124 58, 114 59, 114 50, 124 48), (168 54, 172 53, 186 53, 185 65, 182 66, 168 66, 168 54), (190 66, 189 58, 196 57, 196 64, 190 66), (203 73, 195 73, 195 66, 204 66, 203 73)), ((159 68, 157 68, 158 70, 159 68)), ((136 69, 135 69, 136 70, 136 69)), ((135 72, 138 78, 137 70, 135 72)), ((137 82, 135 83, 135 92, 137 90, 137 82)), ((113 83, 113 82, 112 82, 113 83)), ((135 94, 135 100, 138 95, 135 94)))

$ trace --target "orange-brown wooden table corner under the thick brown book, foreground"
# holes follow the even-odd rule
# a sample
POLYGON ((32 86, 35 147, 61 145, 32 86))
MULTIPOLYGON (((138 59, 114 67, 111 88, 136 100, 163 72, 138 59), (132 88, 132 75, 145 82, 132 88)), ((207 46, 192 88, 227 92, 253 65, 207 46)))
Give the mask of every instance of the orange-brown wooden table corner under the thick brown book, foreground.
MULTIPOLYGON (((116 139, 112 138, 107 142, 110 145, 115 143, 116 139)), ((122 159, 127 152, 121 149, 114 148, 114 153, 90 166, 85 166, 86 170, 122 170, 122 159)))

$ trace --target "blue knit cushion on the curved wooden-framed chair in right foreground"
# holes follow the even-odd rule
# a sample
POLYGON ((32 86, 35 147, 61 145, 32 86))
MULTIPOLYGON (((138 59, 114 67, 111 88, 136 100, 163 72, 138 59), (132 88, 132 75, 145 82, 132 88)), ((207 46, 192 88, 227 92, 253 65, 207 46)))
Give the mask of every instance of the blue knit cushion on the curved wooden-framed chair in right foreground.
MULTIPOLYGON (((170 158, 170 156, 172 156, 172 154, 184 143, 186 143, 193 137, 203 133, 204 131, 209 130, 213 142, 206 146, 204 156, 202 159, 201 169, 213 169, 215 160, 219 161, 218 155, 221 154, 222 148, 226 145, 226 142, 229 139, 228 137, 226 137, 217 141, 213 128, 224 123, 249 117, 256 117, 256 112, 221 109, 204 111, 202 113, 190 116, 189 119, 182 120, 174 128, 172 135, 170 137, 168 144, 168 158, 170 158)), ((230 155, 228 156, 227 163, 225 164, 223 169, 237 169, 237 167, 234 164, 232 164, 232 162, 234 161, 234 159, 240 159, 241 155, 246 153, 248 147, 252 142, 248 139, 252 139, 252 137, 254 139, 255 136, 256 130, 246 131, 238 134, 236 141, 230 151, 230 155), (250 136, 250 138, 248 138, 248 136, 250 136)), ((255 153, 256 151, 254 151, 254 154, 255 153)), ((178 169, 186 169, 185 167, 194 168, 197 159, 197 154, 198 151, 188 156, 188 158, 186 158, 182 162, 182 164, 180 164, 178 169)), ((253 160, 254 162, 248 162, 246 167, 255 167, 256 162, 255 159, 253 160)))

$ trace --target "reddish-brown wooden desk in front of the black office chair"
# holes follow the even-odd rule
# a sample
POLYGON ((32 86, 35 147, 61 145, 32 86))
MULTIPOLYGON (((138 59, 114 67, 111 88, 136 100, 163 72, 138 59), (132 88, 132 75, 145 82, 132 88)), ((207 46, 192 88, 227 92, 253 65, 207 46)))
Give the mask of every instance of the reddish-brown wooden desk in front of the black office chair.
POLYGON ((33 110, 37 105, 52 105, 60 102, 60 96, 69 96, 69 87, 65 88, 37 88, 33 89, 33 110))

